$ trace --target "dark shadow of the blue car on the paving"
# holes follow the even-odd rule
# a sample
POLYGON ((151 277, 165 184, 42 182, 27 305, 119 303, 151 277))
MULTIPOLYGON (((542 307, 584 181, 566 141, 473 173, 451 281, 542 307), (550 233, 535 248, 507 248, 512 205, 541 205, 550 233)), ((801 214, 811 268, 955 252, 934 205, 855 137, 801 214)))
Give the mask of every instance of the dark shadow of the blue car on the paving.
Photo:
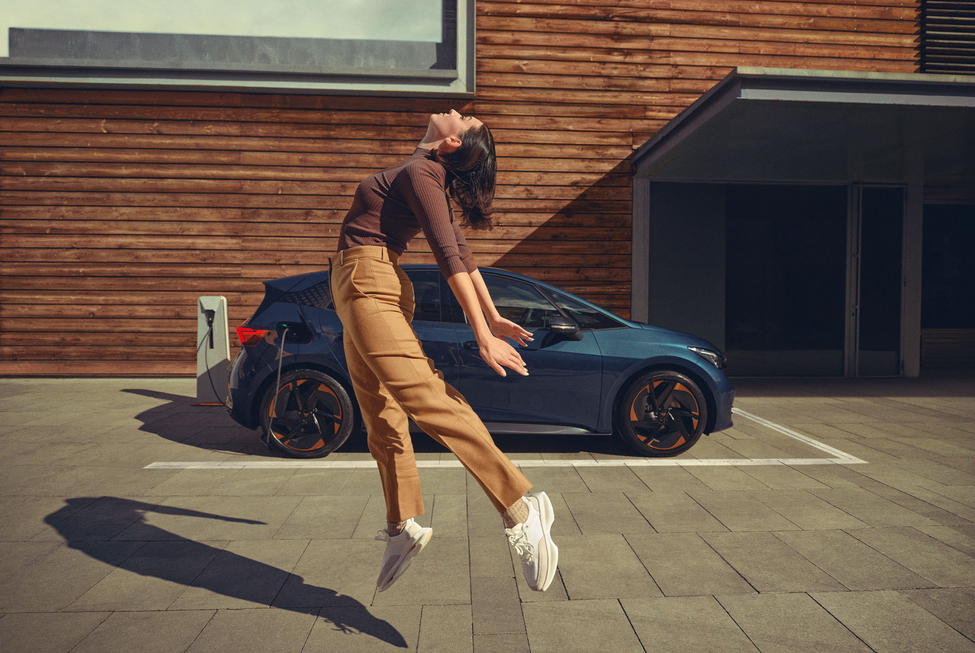
MULTIPOLYGON (((126 388, 122 392, 167 403, 153 406, 136 415, 142 421, 139 431, 151 433, 172 442, 191 444, 214 451, 232 451, 267 458, 291 460, 276 450, 268 450, 260 441, 260 431, 237 424, 223 406, 193 405, 195 399, 173 393, 126 388)), ((413 450, 422 453, 446 453, 447 447, 425 433, 412 433, 413 450)), ((578 453, 640 457, 640 454, 614 436, 587 435, 492 435, 494 443, 509 453, 578 453)), ((366 432, 354 433, 337 450, 346 453, 369 453, 366 432)))

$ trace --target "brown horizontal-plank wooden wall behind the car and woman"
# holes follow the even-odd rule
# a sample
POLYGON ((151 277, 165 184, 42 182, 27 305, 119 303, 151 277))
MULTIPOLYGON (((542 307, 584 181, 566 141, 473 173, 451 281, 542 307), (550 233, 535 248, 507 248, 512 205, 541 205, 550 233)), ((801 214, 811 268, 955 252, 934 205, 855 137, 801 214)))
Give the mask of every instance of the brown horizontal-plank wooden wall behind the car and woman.
MULTIPOLYGON (((736 65, 917 70, 917 2, 585 0, 478 8, 477 97, 0 89, 0 374, 195 373, 195 300, 326 265, 356 184, 427 114, 492 128, 482 266, 629 317, 629 156, 736 65)), ((433 262, 422 238, 402 262, 433 262)), ((233 342, 236 348, 236 342, 233 342)))

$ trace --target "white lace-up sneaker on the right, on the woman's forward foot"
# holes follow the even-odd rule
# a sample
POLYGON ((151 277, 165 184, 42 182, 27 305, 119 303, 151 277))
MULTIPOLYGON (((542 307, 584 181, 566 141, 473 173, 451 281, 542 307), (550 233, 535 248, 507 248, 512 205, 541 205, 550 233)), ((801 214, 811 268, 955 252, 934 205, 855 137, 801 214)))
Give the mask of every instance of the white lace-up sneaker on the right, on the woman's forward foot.
POLYGON ((522 501, 528 505, 528 519, 525 523, 505 528, 504 532, 522 558, 522 571, 528 587, 545 592, 559 566, 559 548, 552 542, 549 532, 555 520, 552 502, 545 492, 529 492, 522 501))

